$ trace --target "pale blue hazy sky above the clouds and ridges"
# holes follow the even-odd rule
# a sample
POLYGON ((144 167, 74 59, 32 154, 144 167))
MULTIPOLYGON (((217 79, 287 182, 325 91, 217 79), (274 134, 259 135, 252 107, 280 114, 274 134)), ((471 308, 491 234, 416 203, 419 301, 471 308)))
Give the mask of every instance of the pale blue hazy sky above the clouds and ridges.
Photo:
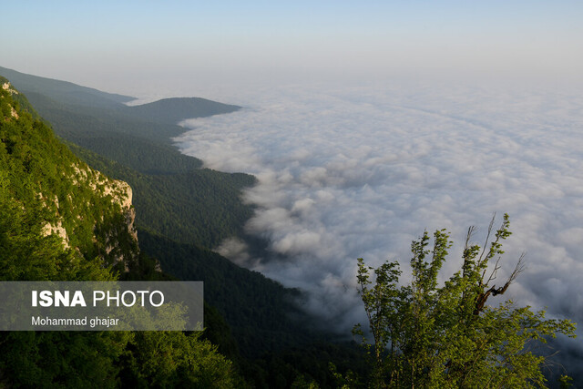
POLYGON ((2 20, 0 66, 126 93, 154 78, 580 79, 583 67, 581 1, 23 0, 2 20))

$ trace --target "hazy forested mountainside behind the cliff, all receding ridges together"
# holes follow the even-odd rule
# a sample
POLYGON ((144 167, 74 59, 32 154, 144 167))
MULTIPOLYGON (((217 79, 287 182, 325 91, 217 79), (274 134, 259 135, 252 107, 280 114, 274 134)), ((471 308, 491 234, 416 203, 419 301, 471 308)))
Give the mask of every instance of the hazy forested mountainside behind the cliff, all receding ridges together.
MULTIPOLYGON (((2 71, 0 68, 0 74, 2 71)), ((23 74, 18 74, 18 82, 58 136, 118 163, 112 167, 84 155, 91 158, 92 166, 127 181, 134 189, 138 226, 210 248, 242 233, 252 209, 240 201, 240 192, 255 179, 200 169, 199 159, 180 154, 170 139, 184 131, 176 125, 183 118, 239 107, 202 98, 171 98, 138 107, 116 102, 112 107, 107 104, 115 98, 98 91, 92 92, 92 98, 98 100, 92 106, 87 100, 77 104, 64 97, 65 92, 52 89, 58 83, 63 83, 58 84, 58 90, 75 89, 70 83, 23 74)), ((76 152, 83 153, 80 149, 76 152)))

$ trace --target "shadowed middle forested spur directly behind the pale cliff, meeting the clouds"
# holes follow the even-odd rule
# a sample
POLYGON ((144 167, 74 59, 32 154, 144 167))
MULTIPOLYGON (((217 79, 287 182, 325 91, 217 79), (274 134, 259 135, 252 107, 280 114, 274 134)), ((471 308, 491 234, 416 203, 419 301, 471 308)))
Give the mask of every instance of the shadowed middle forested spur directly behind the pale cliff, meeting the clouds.
POLYGON ((169 165, 162 163, 157 165, 161 171, 142 173, 84 148, 71 148, 91 166, 131 185, 139 227, 214 248, 230 236, 242 235, 245 221, 251 218, 251 207, 240 202, 240 190, 254 182, 249 175, 210 169, 169 172, 169 165))

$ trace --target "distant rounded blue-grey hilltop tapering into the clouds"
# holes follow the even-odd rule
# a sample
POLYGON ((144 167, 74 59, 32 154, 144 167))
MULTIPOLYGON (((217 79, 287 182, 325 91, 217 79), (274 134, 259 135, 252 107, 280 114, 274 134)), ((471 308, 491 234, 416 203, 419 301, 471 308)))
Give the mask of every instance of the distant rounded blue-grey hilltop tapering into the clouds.
POLYGON ((241 107, 222 104, 199 97, 163 98, 153 103, 128 107, 128 112, 138 118, 159 123, 176 124, 187 118, 203 118, 212 115, 228 114, 241 107))

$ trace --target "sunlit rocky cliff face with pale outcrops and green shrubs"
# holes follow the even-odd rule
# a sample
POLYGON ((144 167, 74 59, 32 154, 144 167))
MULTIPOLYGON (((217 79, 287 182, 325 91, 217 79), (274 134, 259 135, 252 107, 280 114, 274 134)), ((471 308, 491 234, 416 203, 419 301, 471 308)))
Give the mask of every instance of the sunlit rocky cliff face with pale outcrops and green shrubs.
POLYGON ((60 241, 62 250, 128 271, 139 255, 129 185, 77 159, 46 123, 35 119, 26 97, 5 78, 0 77, 0 85, 4 200, 35 215, 39 235, 60 241))

